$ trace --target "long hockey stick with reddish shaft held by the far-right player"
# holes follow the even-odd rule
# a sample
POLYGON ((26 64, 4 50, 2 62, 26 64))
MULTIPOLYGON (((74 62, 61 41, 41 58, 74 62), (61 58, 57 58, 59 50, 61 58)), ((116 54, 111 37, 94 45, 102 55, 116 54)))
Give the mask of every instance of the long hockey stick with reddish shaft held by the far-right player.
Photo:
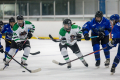
POLYGON ((78 58, 73 59, 73 60, 71 60, 71 61, 69 61, 69 62, 66 62, 66 63, 60 63, 60 62, 57 62, 56 60, 53 60, 52 62, 55 63, 55 64, 58 64, 58 65, 61 65, 61 66, 62 66, 62 65, 65 65, 65 64, 67 64, 67 63, 76 61, 76 60, 78 60, 78 59, 80 59, 80 58, 83 58, 83 57, 86 57, 86 56, 88 56, 88 55, 91 55, 91 54, 93 54, 93 53, 99 52, 99 51, 101 51, 101 50, 103 50, 103 49, 106 49, 106 48, 107 48, 107 47, 102 48, 102 49, 100 49, 100 50, 97 50, 97 51, 95 51, 95 52, 91 52, 91 53, 89 53, 89 54, 86 54, 86 55, 84 55, 84 56, 78 57, 78 58))

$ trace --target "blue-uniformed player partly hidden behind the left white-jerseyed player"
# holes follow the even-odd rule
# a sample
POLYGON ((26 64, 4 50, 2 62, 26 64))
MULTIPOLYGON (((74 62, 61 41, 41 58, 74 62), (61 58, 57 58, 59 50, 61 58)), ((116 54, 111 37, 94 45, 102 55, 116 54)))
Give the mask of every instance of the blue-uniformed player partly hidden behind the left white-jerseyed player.
MULTIPOLYGON (((8 53, 10 50, 10 45, 11 45, 11 40, 12 40, 12 35, 13 35, 13 31, 12 28, 15 24, 15 19, 13 17, 11 17, 9 19, 9 23, 5 24, 2 28, 2 34, 6 33, 5 35, 5 43, 6 43, 6 48, 5 48, 5 52, 8 53)), ((6 61, 6 57, 7 55, 5 54, 5 58, 3 59, 3 61, 6 61)))

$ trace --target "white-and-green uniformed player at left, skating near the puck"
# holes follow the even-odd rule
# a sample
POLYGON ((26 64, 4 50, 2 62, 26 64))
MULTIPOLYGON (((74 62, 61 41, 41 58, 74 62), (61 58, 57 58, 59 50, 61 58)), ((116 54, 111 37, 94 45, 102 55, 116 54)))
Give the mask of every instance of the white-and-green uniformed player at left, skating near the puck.
POLYGON ((13 36, 12 36, 12 43, 11 48, 8 54, 10 56, 7 56, 5 65, 9 65, 9 61, 12 56, 14 56, 16 49, 24 50, 23 56, 21 58, 21 64, 27 66, 26 60, 30 53, 30 42, 25 40, 27 38, 32 37, 32 33, 35 30, 35 26, 29 22, 24 21, 24 18, 22 15, 17 16, 17 23, 13 26, 13 36), (29 33, 28 33, 29 29, 29 33), (25 42, 25 44, 23 44, 25 42))

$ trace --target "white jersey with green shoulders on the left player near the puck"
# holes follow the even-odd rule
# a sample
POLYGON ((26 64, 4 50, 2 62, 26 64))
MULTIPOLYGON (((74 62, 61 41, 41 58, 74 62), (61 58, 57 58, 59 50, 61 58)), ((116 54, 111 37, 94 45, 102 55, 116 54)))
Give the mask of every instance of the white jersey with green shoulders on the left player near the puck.
POLYGON ((18 24, 16 23, 13 26, 12 40, 14 40, 15 42, 24 41, 27 38, 27 34, 28 34, 29 29, 32 29, 33 32, 35 30, 35 26, 29 21, 24 21, 23 27, 18 26, 18 24))

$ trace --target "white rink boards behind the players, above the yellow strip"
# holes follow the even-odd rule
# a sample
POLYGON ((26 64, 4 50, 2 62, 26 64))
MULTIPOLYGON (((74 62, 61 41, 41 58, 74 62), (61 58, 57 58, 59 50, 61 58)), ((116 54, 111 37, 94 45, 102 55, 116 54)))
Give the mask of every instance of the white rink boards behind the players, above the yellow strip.
MULTIPOLYGON (((63 27, 62 21, 32 21, 32 23, 35 25, 34 34, 38 37, 49 37, 49 34, 59 37, 59 30, 63 27)), ((72 23, 82 27, 86 21, 73 21, 72 23)))

